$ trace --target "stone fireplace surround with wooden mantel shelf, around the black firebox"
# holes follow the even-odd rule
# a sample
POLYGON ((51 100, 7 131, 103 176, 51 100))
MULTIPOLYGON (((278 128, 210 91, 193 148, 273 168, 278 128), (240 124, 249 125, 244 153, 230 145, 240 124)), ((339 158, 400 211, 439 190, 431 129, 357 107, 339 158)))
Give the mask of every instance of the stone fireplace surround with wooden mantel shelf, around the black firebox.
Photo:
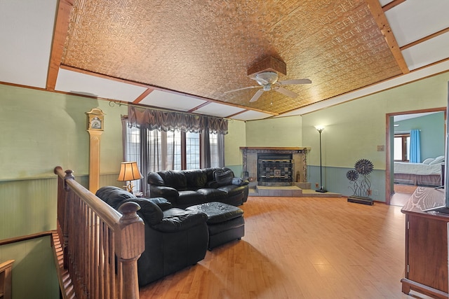
POLYGON ((307 182, 307 152, 309 147, 267 147, 267 146, 241 146, 243 153, 243 172, 250 181, 257 181, 257 154, 258 153, 291 153, 295 161, 295 177, 297 182, 307 182))

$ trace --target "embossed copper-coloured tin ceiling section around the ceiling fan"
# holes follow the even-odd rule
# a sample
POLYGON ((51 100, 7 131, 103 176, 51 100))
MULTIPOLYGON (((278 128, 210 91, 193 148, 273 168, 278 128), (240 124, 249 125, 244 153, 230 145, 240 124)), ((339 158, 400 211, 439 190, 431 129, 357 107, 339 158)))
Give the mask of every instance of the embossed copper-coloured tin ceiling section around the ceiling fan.
POLYGON ((62 64, 276 114, 402 74, 362 0, 76 0, 62 64), (270 55, 312 83, 224 94, 270 55))

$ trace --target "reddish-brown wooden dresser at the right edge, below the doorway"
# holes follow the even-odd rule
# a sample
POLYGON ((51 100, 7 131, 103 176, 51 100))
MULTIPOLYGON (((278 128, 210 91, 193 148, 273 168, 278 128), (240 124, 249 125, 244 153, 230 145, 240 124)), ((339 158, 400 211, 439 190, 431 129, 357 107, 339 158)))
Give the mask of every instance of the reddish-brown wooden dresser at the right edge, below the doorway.
POLYGON ((402 291, 448 298, 449 214, 423 211, 444 205, 444 190, 418 187, 401 209, 406 214, 406 277, 402 291))

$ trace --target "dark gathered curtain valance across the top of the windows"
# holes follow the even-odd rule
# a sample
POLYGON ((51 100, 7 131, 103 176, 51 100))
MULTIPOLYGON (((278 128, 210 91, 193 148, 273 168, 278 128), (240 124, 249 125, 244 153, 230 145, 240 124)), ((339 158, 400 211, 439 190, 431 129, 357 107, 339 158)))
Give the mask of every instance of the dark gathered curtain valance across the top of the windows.
POLYGON ((227 134, 227 123, 228 121, 223 118, 128 106, 128 125, 130 127, 196 133, 206 130, 210 133, 227 134))

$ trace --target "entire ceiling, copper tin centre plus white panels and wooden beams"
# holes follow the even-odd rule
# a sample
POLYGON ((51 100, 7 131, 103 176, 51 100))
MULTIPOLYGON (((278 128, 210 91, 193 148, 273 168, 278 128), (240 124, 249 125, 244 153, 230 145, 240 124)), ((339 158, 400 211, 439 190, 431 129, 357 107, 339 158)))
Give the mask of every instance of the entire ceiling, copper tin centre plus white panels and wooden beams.
MULTIPOLYGON (((1 0, 0 84, 210 116, 295 116, 449 70, 448 0, 1 0), (247 75, 286 64, 250 103, 247 75), (286 73, 286 74, 284 74, 286 73)), ((275 68, 276 69, 276 68, 275 68)))

